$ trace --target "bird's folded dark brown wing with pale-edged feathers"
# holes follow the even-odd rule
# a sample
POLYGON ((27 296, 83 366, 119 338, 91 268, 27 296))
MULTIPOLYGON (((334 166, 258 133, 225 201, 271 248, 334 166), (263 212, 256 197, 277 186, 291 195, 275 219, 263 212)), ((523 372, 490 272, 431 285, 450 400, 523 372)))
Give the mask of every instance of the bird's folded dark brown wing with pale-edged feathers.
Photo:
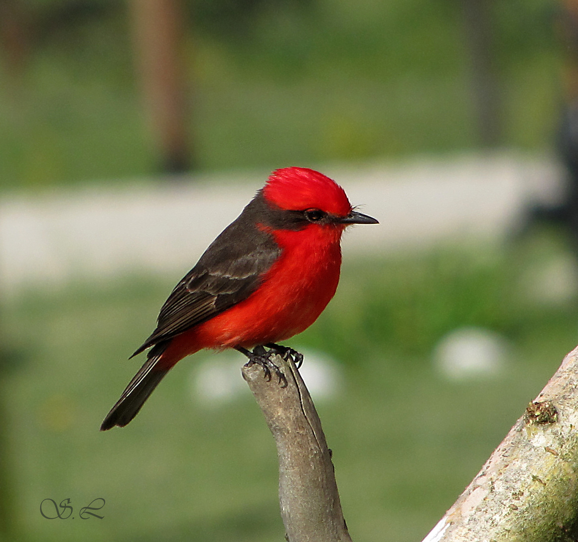
POLYGON ((176 285, 161 308, 157 328, 133 355, 209 320, 257 289, 280 248, 270 233, 243 223, 242 217, 214 240, 176 285))

